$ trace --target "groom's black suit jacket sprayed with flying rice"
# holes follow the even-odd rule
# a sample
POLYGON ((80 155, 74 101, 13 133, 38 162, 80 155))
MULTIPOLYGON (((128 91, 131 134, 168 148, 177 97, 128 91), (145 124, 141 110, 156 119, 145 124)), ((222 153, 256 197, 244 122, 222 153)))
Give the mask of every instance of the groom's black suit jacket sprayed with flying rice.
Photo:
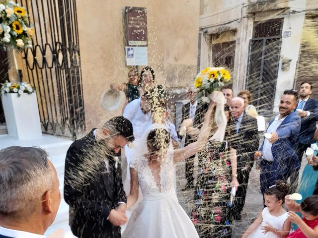
POLYGON ((121 237, 120 228, 107 220, 118 202, 127 201, 121 165, 109 151, 105 150, 105 144, 96 141, 92 130, 75 141, 67 152, 64 199, 70 205, 71 230, 79 238, 121 237), (105 165, 106 157, 109 173, 105 165))

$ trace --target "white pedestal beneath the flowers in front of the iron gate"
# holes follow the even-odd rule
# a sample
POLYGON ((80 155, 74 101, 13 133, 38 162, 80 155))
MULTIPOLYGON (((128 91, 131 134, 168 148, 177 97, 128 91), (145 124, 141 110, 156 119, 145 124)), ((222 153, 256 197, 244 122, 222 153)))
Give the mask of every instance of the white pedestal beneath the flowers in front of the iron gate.
POLYGON ((7 93, 1 96, 9 136, 34 139, 42 136, 36 93, 7 93))

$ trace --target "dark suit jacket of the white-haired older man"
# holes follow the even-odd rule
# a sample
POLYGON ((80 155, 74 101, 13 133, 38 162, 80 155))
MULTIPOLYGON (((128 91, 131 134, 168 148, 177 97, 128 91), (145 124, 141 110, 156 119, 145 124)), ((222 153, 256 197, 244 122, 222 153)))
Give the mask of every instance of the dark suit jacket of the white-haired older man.
POLYGON ((233 135, 230 139, 230 146, 237 150, 238 169, 242 169, 246 162, 252 163, 254 161, 254 153, 259 147, 257 120, 244 113, 239 133, 236 133, 235 121, 232 121, 233 135))

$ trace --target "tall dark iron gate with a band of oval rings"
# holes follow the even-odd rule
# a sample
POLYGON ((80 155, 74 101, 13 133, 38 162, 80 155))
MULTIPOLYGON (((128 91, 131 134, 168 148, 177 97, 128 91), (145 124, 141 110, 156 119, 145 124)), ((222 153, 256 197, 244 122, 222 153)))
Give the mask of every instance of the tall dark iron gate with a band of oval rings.
POLYGON ((85 129, 76 0, 18 0, 34 23, 24 78, 36 87, 44 130, 73 138, 85 129))

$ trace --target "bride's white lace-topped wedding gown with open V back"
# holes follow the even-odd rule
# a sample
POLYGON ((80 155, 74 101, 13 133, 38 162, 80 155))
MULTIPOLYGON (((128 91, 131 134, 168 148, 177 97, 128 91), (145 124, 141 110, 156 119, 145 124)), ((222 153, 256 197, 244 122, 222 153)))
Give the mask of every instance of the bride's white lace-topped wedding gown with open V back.
POLYGON ((156 182, 145 156, 132 159, 138 174, 143 200, 132 213, 123 238, 198 238, 188 215, 178 203, 174 189, 172 151, 162 161, 156 182), (160 186, 160 189, 158 185, 160 186))

